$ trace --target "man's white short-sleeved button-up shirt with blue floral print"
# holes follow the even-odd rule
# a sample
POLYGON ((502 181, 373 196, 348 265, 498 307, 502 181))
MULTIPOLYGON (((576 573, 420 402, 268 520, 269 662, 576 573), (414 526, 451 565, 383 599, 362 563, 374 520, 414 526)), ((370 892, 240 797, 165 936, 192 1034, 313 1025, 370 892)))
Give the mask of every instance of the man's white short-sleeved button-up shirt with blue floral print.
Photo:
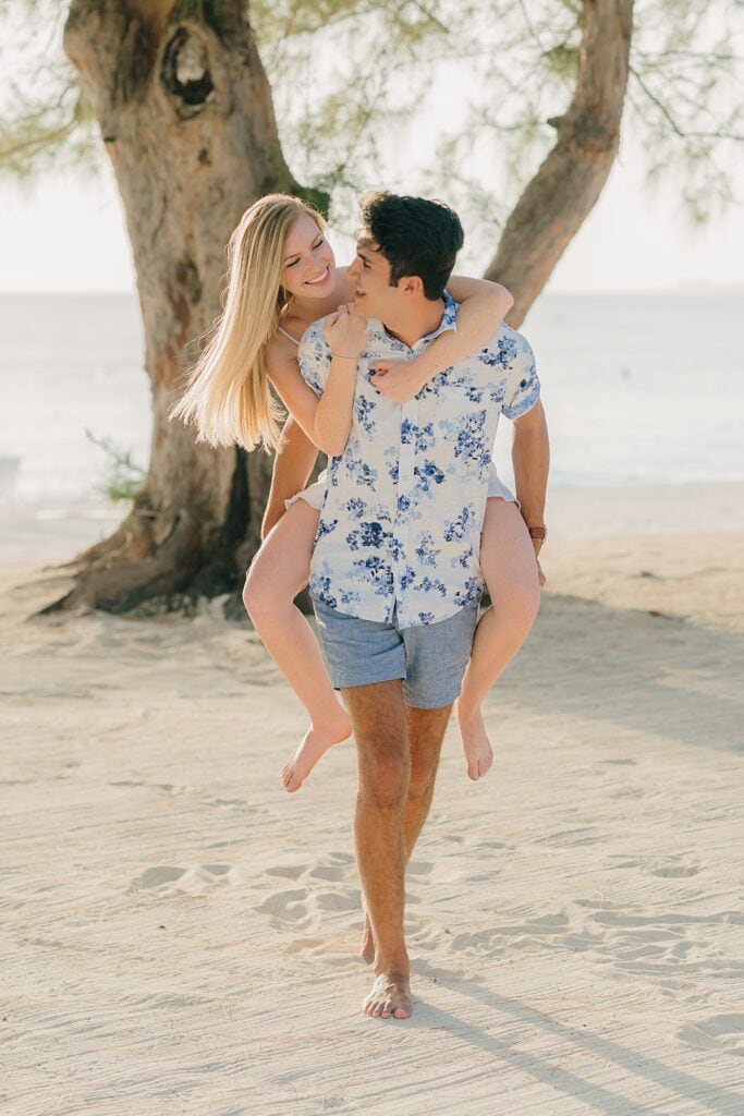
MULTIPOLYGON (((502 325, 492 340, 434 376, 408 403, 385 398, 370 365, 412 360, 447 329, 457 306, 444 295, 437 329, 408 348, 369 321, 357 364, 351 432, 328 465, 310 566, 310 593, 330 608, 399 628, 454 616, 481 593, 479 550, 499 415, 516 419, 540 396, 532 349, 502 325)), ((331 354, 322 324, 299 348, 302 377, 322 393, 331 354)))

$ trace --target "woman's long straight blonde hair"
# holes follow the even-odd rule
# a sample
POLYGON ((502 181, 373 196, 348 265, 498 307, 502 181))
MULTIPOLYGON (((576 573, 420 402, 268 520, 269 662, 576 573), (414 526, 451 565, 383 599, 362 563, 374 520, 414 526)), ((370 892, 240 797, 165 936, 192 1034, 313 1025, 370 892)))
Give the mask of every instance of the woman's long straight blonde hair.
POLYGON ((170 413, 193 423, 200 442, 260 445, 267 452, 280 444, 283 412, 271 394, 265 350, 290 300, 281 285, 284 244, 302 214, 325 229, 320 213, 299 199, 267 194, 243 213, 230 238, 222 317, 170 413))

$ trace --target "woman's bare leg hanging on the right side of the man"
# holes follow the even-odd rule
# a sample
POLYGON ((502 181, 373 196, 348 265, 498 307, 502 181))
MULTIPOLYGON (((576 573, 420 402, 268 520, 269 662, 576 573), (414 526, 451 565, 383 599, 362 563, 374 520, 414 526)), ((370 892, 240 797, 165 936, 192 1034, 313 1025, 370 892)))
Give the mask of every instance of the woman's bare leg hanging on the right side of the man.
POLYGON ((471 779, 493 762, 481 703, 526 639, 540 607, 538 562, 515 503, 497 497, 486 502, 481 536, 481 570, 491 607, 481 617, 457 700, 457 723, 471 779))

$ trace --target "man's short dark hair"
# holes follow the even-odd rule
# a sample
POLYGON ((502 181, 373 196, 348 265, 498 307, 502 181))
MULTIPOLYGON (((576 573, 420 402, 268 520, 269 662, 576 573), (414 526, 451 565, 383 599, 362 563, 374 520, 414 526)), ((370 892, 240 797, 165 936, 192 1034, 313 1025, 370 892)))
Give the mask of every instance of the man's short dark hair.
POLYGON ((426 298, 442 298, 463 247, 460 218, 444 202, 392 194, 367 194, 359 208, 365 235, 390 264, 390 287, 404 276, 418 276, 426 298))

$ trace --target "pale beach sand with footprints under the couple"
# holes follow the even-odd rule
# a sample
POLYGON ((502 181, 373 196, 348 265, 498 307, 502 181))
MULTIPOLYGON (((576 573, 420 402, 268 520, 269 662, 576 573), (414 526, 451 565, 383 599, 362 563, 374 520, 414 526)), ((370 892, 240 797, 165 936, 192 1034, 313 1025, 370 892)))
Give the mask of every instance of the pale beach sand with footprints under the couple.
POLYGON ((741 1116, 744 530, 693 521, 555 531, 487 779, 447 735, 406 1022, 359 1011, 352 745, 287 796, 248 626, 28 619, 65 579, 16 550, 3 1114, 741 1116))

